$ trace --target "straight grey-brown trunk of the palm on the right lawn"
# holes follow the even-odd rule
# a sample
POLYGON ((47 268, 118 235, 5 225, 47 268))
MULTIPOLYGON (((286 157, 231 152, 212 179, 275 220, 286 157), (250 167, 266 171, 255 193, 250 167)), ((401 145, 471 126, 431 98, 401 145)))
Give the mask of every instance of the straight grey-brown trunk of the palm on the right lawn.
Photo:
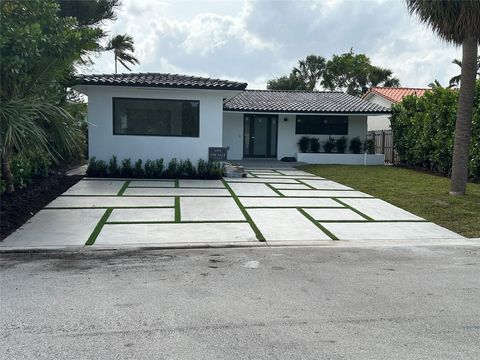
POLYGON ((463 195, 467 188, 477 52, 477 39, 468 38, 463 42, 462 73, 453 147, 451 195, 463 195))

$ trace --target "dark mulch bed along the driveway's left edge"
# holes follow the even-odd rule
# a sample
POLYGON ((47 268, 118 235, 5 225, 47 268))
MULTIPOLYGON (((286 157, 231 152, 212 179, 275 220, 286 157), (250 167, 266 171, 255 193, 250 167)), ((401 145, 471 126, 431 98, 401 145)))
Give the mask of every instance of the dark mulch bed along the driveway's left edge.
POLYGON ((67 176, 53 174, 46 178, 34 179, 24 189, 1 196, 0 240, 25 224, 28 219, 49 202, 64 193, 83 178, 83 175, 67 176))

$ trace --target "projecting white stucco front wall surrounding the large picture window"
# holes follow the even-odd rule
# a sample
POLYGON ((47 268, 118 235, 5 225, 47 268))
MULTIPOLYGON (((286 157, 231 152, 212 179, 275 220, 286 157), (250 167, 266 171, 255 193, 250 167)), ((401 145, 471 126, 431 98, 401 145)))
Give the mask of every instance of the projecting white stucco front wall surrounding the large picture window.
POLYGON ((223 125, 222 91, 187 89, 145 89, 110 86, 88 88, 89 155, 109 160, 116 155, 119 160, 130 158, 159 159, 168 162, 172 158, 208 159, 208 147, 222 146, 223 125), (200 101, 200 136, 138 136, 113 135, 113 97, 146 99, 177 99, 200 101))

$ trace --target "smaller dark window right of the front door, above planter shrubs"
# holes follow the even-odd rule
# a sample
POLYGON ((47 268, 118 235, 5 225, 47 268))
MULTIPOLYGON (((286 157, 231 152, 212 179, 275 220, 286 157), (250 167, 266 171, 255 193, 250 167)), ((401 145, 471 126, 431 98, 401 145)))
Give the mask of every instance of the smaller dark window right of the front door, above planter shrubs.
POLYGON ((348 135, 348 116, 297 115, 295 134, 348 135))

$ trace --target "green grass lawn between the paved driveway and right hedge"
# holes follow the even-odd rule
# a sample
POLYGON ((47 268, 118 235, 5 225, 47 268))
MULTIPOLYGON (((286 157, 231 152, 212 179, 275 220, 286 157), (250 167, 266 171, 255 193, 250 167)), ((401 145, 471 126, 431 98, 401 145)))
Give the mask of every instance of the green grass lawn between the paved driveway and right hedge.
POLYGON ((480 184, 468 184, 465 196, 451 196, 450 179, 394 166, 300 169, 364 191, 463 236, 480 237, 480 184))

